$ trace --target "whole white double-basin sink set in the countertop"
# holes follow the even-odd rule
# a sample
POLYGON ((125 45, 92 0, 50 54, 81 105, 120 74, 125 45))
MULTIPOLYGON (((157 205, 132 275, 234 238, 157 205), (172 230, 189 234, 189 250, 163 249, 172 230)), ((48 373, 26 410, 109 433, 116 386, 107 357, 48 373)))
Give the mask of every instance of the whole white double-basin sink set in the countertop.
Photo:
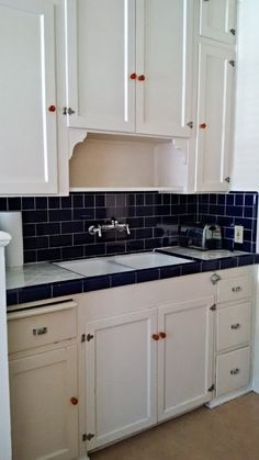
POLYGON ((56 266, 82 274, 85 277, 98 277, 101 274, 121 273, 145 268, 165 267, 176 263, 190 263, 191 260, 181 257, 167 256, 159 253, 125 254, 93 259, 70 260, 55 262, 56 266))

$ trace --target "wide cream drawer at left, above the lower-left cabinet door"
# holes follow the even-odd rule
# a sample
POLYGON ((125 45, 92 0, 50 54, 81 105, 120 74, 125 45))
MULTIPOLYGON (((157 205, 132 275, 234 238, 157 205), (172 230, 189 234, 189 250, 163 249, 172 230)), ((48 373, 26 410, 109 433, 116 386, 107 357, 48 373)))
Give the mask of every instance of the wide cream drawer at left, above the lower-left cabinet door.
POLYGON ((57 343, 77 335, 76 303, 8 315, 9 352, 57 343), (56 311, 55 311, 56 310, 56 311))

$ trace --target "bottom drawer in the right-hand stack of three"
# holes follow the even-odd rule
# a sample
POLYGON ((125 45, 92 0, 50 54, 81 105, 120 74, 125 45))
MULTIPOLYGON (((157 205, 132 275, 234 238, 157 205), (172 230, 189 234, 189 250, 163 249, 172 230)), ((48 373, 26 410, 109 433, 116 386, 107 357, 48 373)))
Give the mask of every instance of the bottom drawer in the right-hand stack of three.
POLYGON ((221 396, 248 385, 250 380, 250 347, 216 358, 216 395, 221 396))

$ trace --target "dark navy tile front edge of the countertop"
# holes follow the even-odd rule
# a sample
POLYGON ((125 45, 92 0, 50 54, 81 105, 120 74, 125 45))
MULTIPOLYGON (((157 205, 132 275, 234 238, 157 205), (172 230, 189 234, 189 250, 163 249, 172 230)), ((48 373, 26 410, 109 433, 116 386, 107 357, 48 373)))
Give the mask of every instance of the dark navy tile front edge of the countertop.
POLYGON ((161 268, 132 270, 128 272, 114 273, 109 276, 104 274, 98 277, 81 277, 80 279, 76 280, 61 282, 57 281, 46 284, 9 289, 7 290, 7 304, 18 305, 21 303, 55 299, 64 295, 97 291, 100 289, 109 289, 126 284, 161 280, 166 278, 176 278, 185 274, 214 271, 218 269, 223 270, 234 267, 244 267, 254 263, 259 263, 259 254, 248 254, 244 256, 234 256, 225 259, 215 259, 209 261, 193 260, 191 263, 187 265, 173 265, 161 268))

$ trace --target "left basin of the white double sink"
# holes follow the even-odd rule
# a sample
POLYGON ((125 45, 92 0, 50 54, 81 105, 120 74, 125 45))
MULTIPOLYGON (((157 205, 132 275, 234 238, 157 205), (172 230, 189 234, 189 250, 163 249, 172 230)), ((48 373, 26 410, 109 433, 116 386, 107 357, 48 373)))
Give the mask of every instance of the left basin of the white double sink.
POLYGON ((55 265, 61 268, 66 268, 70 271, 75 271, 76 273, 82 274, 85 277, 98 277, 101 274, 121 273, 123 271, 132 270, 128 267, 113 262, 110 257, 71 260, 68 262, 56 262, 55 265))

